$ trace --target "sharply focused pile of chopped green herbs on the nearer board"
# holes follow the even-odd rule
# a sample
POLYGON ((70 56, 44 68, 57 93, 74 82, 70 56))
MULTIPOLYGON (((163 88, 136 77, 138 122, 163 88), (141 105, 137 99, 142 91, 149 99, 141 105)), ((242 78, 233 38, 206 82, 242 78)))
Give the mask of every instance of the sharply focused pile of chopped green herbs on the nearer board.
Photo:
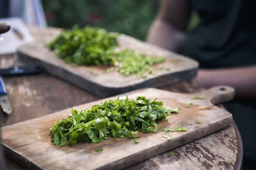
POLYGON ((77 141, 99 143, 108 136, 113 138, 138 138, 141 132, 156 132, 156 121, 169 113, 179 113, 177 108, 163 108, 163 103, 150 102, 145 97, 116 99, 96 104, 84 111, 72 110, 72 117, 63 118, 51 128, 55 145, 75 145, 77 141))

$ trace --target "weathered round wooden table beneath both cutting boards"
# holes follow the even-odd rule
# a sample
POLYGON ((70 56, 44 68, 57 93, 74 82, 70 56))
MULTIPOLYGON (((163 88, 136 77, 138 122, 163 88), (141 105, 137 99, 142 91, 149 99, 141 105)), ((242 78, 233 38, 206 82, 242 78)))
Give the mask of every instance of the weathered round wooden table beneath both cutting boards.
MULTIPOLYGON (((54 31, 30 28, 35 39, 49 38, 49 30, 54 31)), ((0 56, 1 68, 17 64, 20 64, 17 55, 0 56)), ((1 111, 1 126, 100 99, 47 73, 5 77, 4 82, 13 111, 8 117, 1 111)), ((196 92, 201 88, 191 80, 166 87, 164 90, 196 92)), ((243 159, 243 146, 236 124, 169 152, 127 169, 241 169, 243 159), (171 156, 169 152, 175 155, 171 156)), ((5 160, 5 168, 22 169, 8 158, 5 160)))

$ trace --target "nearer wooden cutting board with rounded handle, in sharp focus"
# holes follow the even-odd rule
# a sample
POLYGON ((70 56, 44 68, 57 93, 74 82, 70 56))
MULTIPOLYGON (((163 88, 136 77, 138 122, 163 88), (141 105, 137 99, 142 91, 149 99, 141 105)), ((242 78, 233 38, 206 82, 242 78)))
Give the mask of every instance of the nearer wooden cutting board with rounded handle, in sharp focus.
MULTIPOLYGON (((78 143, 74 146, 59 147, 51 142, 50 128, 54 122, 68 117, 70 108, 44 117, 34 118, 18 124, 8 125, 1 129, 2 143, 5 153, 10 159, 28 169, 122 169, 131 166, 159 153, 166 152, 177 146, 184 145, 207 134, 223 129, 232 123, 232 115, 214 104, 230 101, 234 97, 234 89, 227 86, 194 94, 180 94, 159 89, 140 89, 127 94, 124 98, 138 96, 157 98, 163 101, 164 107, 181 108, 179 114, 171 114, 166 120, 157 122, 159 130, 155 133, 139 133, 140 143, 134 139, 113 138, 102 143, 78 143), (203 99, 191 99, 202 97, 203 99), (184 108, 193 103, 190 108, 184 108), (196 124, 196 120, 201 124, 196 124), (175 129, 184 127, 188 132, 170 132, 173 139, 163 138, 161 127, 175 129), (95 149, 103 148, 101 153, 95 149)), ((108 99, 116 99, 110 97, 108 99)), ((83 110, 94 104, 82 104, 74 108, 83 110)))

